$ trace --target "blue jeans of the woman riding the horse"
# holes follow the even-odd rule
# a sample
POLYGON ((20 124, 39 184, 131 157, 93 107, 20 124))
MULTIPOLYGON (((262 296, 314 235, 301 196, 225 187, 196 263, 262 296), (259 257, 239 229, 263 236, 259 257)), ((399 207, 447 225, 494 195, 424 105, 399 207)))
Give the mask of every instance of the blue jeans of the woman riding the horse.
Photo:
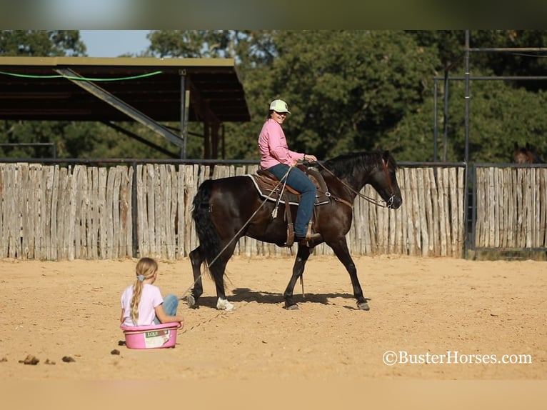
POLYGON ((296 211, 296 221, 294 221, 294 234, 303 237, 306 236, 308 223, 313 214, 317 189, 311 179, 298 168, 291 168, 286 164, 277 164, 266 171, 270 171, 281 181, 288 169, 291 169, 291 171, 287 176, 287 185, 301 193, 300 204, 298 205, 298 211, 296 211))

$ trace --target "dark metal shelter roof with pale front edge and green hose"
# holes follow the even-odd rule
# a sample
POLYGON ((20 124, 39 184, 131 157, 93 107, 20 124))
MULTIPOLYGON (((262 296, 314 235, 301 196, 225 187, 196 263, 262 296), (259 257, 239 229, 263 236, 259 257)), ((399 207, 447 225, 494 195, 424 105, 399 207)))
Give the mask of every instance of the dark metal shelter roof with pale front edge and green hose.
POLYGON ((190 91, 188 121, 251 119, 234 59, 5 56, 0 119, 132 121, 62 76, 67 69, 154 121, 181 121, 184 89, 190 91))

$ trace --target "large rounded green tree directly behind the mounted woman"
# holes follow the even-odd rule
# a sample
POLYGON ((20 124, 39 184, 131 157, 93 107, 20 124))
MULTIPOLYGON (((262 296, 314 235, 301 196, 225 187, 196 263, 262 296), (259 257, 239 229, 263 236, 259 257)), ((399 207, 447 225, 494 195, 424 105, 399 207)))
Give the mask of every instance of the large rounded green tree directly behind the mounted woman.
MULTIPOLYGON (((254 137, 269 101, 285 99, 291 148, 319 158, 372 149, 431 96, 435 56, 403 31, 278 31, 276 59, 246 76, 254 137), (255 73, 256 71, 256 73, 255 73)), ((242 125, 248 129, 247 125, 242 125)))

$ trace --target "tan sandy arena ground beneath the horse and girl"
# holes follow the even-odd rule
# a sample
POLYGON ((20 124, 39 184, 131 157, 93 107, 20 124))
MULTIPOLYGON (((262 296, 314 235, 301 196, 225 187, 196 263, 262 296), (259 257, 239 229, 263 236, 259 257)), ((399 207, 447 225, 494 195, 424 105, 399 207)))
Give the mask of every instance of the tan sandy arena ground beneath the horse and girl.
MULTIPOLYGON (((2 260, 0 380, 546 379, 546 262, 355 261, 370 311, 356 309, 335 258, 311 256, 305 298, 295 289, 300 310, 286 311, 293 259, 235 257, 235 311, 214 309, 204 276, 201 308, 181 301, 186 326, 175 348, 136 350, 119 346, 119 296, 136 260, 2 260), (403 363, 385 364, 387 351, 403 363), (20 362, 28 355, 38 364, 20 362), (506 359, 514 363, 493 363, 506 359)), ((164 294, 184 296, 192 283, 188 260, 160 261, 164 294)))

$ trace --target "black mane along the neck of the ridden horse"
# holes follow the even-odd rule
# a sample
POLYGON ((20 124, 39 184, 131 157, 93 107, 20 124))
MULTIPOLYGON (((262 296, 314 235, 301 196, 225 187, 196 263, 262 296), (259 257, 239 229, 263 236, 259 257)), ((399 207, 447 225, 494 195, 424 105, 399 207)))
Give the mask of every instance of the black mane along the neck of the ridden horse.
POLYGON ((383 168, 382 159, 386 157, 388 169, 396 171, 397 163, 388 151, 368 151, 354 154, 343 154, 323 162, 323 166, 338 178, 350 176, 356 169, 369 169, 370 167, 383 168))

